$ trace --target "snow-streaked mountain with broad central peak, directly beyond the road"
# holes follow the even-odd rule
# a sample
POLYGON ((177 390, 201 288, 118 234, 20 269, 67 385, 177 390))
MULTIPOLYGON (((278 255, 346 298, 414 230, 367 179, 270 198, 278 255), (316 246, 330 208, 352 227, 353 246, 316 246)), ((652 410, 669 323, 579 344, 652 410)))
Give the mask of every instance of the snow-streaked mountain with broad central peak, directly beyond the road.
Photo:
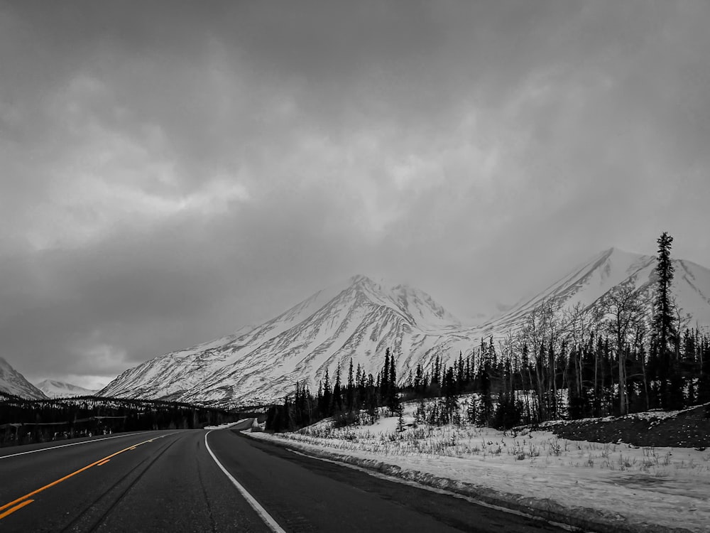
POLYGON ((458 354, 470 347, 470 338, 458 319, 424 292, 354 276, 247 333, 126 370, 99 394, 187 402, 273 399, 291 392, 297 381, 315 387, 338 365, 345 374, 351 357, 354 365, 376 373, 387 347, 403 369, 442 350, 458 354))

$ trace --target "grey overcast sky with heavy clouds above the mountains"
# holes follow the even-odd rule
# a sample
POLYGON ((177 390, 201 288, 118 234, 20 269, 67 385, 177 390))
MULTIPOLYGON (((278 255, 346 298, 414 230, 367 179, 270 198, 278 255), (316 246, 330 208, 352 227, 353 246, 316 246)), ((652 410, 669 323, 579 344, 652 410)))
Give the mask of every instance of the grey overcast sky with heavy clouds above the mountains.
POLYGON ((710 4, 0 0, 0 355, 105 384, 353 274, 710 266, 710 4))

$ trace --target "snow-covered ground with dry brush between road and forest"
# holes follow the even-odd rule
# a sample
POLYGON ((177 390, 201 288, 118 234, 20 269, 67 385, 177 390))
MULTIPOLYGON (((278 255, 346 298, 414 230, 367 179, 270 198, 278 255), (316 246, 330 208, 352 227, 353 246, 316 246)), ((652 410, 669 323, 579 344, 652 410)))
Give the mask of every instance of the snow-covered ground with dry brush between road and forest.
POLYGON ((569 515, 594 510, 638 526, 710 532, 710 450, 568 441, 550 431, 415 426, 414 409, 406 406, 401 432, 398 419, 388 417, 371 426, 334 429, 322 421, 297 433, 253 436, 289 441, 305 453, 376 460, 447 478, 503 500, 541 508, 552 500, 569 515))

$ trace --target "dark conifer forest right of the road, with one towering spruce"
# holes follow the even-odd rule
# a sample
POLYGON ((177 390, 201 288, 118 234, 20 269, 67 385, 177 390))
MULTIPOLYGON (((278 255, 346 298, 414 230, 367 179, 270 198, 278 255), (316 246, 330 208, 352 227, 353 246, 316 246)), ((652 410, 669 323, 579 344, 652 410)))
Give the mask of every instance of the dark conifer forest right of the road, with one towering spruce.
POLYGON ((350 360, 345 380, 340 367, 333 379, 326 372, 315 396, 297 383, 269 409, 267 429, 298 429, 328 416, 339 425, 366 423, 413 399, 422 422, 497 429, 706 404, 710 335, 689 327, 691 318, 675 305, 672 240, 666 232, 657 239, 652 286, 618 286, 594 306, 562 309, 547 301, 515 332, 481 339, 448 365, 437 355, 406 376, 396 376, 389 349, 376 376, 350 360), (466 420, 457 409, 461 394, 476 399, 466 420))

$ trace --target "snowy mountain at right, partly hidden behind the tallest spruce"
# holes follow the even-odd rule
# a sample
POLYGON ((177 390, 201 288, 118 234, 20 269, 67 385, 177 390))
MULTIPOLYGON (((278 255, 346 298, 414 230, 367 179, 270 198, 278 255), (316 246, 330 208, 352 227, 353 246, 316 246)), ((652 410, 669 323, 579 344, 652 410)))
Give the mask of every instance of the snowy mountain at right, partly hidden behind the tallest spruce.
MULTIPOLYGON (((683 259, 673 259, 672 264, 675 269, 672 294, 682 316, 691 318, 689 327, 710 325, 710 270, 683 259)), ((501 316, 487 321, 482 329, 495 333, 516 330, 530 311, 544 301, 552 301, 555 307, 562 309, 572 308, 577 303, 584 308, 595 308, 605 296, 626 285, 648 296, 646 303, 650 306, 653 284, 657 281, 655 266, 656 259, 650 255, 618 248, 604 250, 532 298, 516 303, 501 316)))

